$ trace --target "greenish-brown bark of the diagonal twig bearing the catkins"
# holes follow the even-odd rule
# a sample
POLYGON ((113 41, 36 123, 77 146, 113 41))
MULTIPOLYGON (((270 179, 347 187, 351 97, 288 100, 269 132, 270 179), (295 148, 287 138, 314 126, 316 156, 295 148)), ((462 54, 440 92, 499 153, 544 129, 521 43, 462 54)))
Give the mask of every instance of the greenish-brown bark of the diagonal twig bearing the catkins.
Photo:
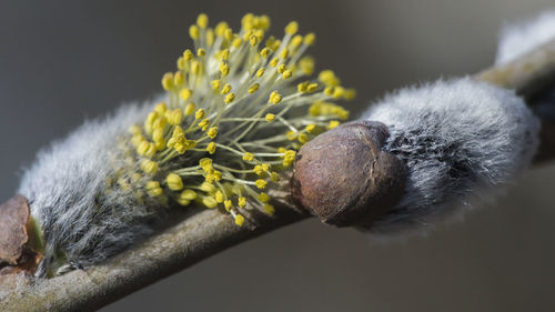
MULTIPOLYGON (((475 79, 528 97, 536 92, 533 87, 551 81, 547 78, 554 68, 555 41, 512 63, 487 69, 475 79)), ((546 138, 544 143, 553 141, 546 138)), ((289 187, 282 190, 273 194, 282 199, 275 204, 274 218, 255 212, 250 215, 256 223, 254 229, 238 228, 225 214, 204 210, 102 265, 53 279, 37 280, 23 273, 0 278, 2 311, 94 311, 226 248, 307 218, 292 204, 289 187)))

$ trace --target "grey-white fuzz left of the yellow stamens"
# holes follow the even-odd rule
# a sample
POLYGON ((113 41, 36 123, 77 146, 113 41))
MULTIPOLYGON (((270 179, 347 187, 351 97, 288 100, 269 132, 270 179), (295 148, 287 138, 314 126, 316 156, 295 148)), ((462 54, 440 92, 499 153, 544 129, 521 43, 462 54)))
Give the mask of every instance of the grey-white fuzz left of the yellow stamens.
POLYGON ((109 118, 87 122, 41 151, 27 170, 19 192, 29 199, 46 242, 38 275, 53 262, 98 263, 150 232, 143 220, 151 215, 150 208, 139 205, 129 193, 102 192, 114 172, 111 164, 123 161, 118 135, 144 119, 150 107, 127 105, 109 118))

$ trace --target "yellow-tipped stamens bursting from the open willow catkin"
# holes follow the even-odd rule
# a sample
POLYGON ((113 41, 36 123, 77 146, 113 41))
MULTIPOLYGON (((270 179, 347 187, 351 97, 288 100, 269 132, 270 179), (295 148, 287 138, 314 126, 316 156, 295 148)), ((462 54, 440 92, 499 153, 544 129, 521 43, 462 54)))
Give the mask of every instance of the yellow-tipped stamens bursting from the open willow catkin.
POLYGON ((314 33, 300 33, 292 21, 274 37, 270 26, 269 17, 248 13, 233 31, 199 14, 189 28, 194 49, 162 76, 167 97, 129 128, 129 143, 120 144, 125 168, 107 188, 138 203, 221 208, 238 227, 250 222, 248 202, 273 215, 269 193, 296 151, 347 120, 336 101, 356 93, 332 70, 313 78, 315 61, 303 53, 314 33))

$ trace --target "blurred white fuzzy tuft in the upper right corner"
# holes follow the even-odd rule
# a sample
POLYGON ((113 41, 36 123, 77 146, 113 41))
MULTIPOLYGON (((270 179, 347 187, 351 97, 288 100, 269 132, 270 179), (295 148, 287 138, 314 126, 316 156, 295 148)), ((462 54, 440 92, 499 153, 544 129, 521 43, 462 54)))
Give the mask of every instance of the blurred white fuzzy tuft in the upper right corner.
POLYGON ((555 10, 534 19, 505 26, 497 47, 496 63, 506 63, 555 39, 555 10))

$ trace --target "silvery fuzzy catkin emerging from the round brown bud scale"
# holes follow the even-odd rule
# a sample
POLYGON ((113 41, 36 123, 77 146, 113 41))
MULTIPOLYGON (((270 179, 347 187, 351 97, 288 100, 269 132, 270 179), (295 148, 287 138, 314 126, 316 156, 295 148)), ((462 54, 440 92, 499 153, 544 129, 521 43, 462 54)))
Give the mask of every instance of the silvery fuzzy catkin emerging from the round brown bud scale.
POLYGON ((538 144, 539 122, 514 91, 471 78, 402 89, 364 118, 387 125, 384 150, 408 172, 400 203, 375 222, 377 233, 425 229, 487 199, 527 168, 538 144))

